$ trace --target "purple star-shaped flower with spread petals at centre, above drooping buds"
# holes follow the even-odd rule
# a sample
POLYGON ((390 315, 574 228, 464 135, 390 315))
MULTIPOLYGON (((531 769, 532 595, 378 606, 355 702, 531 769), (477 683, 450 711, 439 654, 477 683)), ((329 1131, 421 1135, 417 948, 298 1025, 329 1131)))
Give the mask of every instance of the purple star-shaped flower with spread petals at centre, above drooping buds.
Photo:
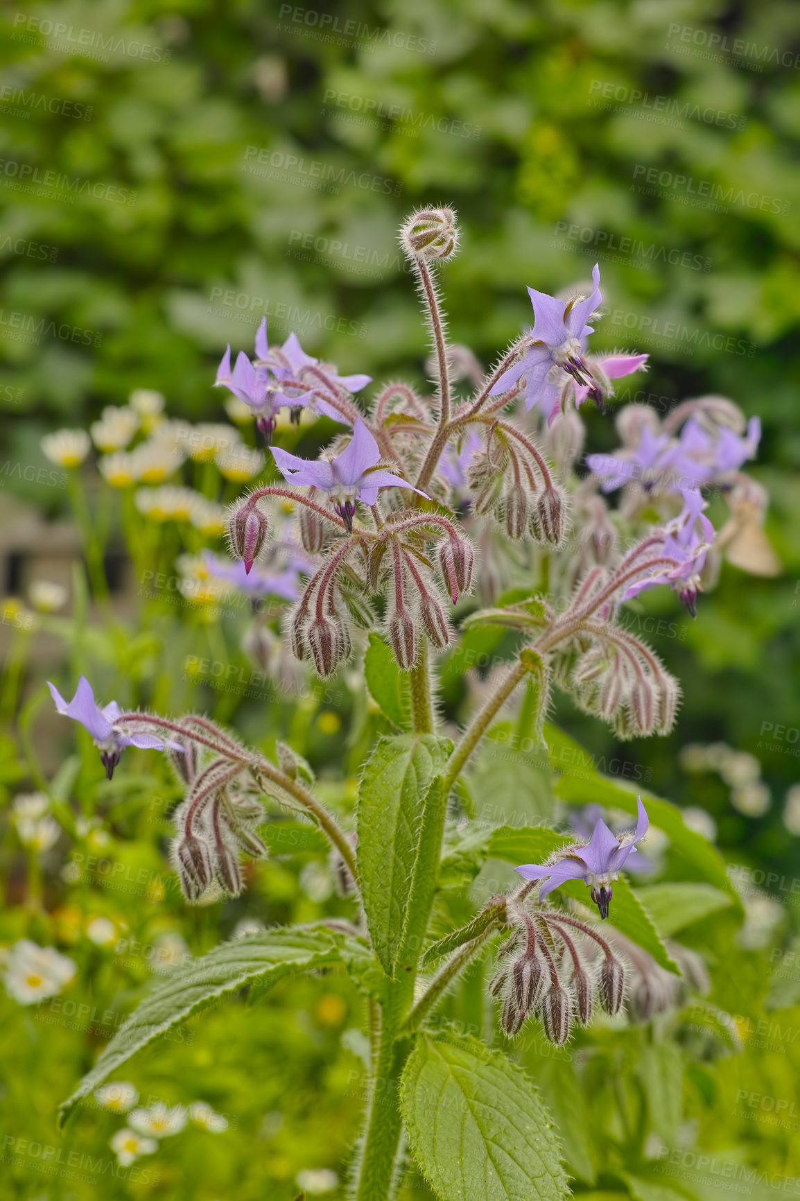
POLYGON ((348 531, 353 528, 356 501, 375 504, 380 488, 410 488, 419 496, 426 495, 400 476, 377 466, 381 461, 378 444, 360 417, 356 422, 352 438, 333 460, 320 459, 312 462, 281 450, 280 447, 270 449, 279 471, 289 484, 305 484, 328 492, 348 531))

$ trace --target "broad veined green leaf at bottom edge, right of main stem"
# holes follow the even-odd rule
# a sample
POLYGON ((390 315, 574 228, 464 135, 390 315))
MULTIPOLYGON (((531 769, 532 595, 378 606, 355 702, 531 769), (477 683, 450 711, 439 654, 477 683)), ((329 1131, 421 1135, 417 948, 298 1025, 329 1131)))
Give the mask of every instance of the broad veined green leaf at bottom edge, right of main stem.
POLYGON ((420 1035, 400 1081, 411 1148, 442 1201, 569 1195, 553 1119, 521 1068, 477 1039, 420 1035))

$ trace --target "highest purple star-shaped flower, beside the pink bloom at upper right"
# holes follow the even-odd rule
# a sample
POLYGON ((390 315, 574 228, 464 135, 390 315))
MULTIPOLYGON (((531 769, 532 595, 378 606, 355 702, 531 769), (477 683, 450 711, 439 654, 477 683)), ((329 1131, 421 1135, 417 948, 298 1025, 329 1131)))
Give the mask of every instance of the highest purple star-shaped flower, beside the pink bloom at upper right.
POLYGON ((525 407, 531 410, 539 404, 548 423, 556 413, 565 374, 579 388, 586 389, 585 395, 590 393, 599 395, 599 389, 592 381, 591 371, 584 359, 585 339, 593 333, 593 328, 587 325, 586 321, 603 299, 597 263, 592 270, 592 283, 591 295, 568 303, 556 300, 545 292, 537 292, 536 288, 527 289, 533 305, 531 334, 535 341, 519 363, 503 371, 490 395, 496 396, 507 392, 525 374, 525 407))

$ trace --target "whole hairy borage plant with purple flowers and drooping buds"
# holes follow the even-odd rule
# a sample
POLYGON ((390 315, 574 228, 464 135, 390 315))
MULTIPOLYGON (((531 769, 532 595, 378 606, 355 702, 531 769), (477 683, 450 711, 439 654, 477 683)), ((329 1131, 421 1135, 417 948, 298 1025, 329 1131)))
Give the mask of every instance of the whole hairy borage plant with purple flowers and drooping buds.
POLYGON ((498 1028, 489 1042, 513 1039, 526 1023, 556 1047, 590 1023, 633 1038, 637 1023, 708 987, 702 960, 661 934, 681 928, 675 898, 683 898, 686 920, 681 890, 699 896, 703 912, 715 889, 717 904, 739 901, 714 847, 665 801, 643 803, 593 769, 567 772, 563 800, 622 811, 631 829, 617 824, 614 832, 602 815, 613 821, 608 808, 578 809, 578 837, 565 842, 547 825, 471 820, 465 769, 513 731, 509 754, 539 746, 565 770, 569 740, 545 722, 556 686, 621 739, 670 731, 679 686, 622 607, 668 585, 694 613, 722 552, 703 489, 715 485, 730 498, 732 520, 736 504, 750 504, 751 520, 763 513, 763 496, 740 471, 758 428, 745 431, 739 410, 721 398, 677 406, 663 428, 652 411, 628 406, 617 419, 621 450, 587 456, 591 473, 580 478, 580 406, 604 411, 611 381, 646 359, 589 349, 602 304, 597 267, 586 294, 529 289, 532 329, 483 378, 468 349, 448 345, 435 282, 456 249, 453 211, 416 213, 401 243, 431 335, 435 396, 389 383, 369 412, 360 410, 353 393, 366 376, 340 376, 294 335, 270 347, 265 327, 255 362, 239 354, 232 366, 228 348, 216 380, 253 412, 268 446, 281 408, 294 418, 308 408, 346 428, 318 461, 270 447, 274 482, 233 504, 229 542, 243 586, 259 557, 280 575, 281 554, 293 580, 305 578, 283 623, 302 664, 322 677, 353 657, 363 664, 384 733, 363 764, 356 829, 315 795, 308 764, 289 746, 279 743, 273 761, 204 716, 101 709, 83 677, 68 704, 53 688, 59 711, 92 735, 108 776, 126 746, 169 755, 185 785, 172 859, 187 902, 241 891, 241 856, 267 854, 262 802, 276 799, 329 839, 352 921, 250 933, 177 969, 64 1109, 214 998, 256 980, 271 986, 291 973, 340 967, 365 997, 371 1045, 353 1196, 388 1197, 413 1159, 446 1201, 555 1199, 568 1193, 559 1133, 513 1062, 514 1044, 503 1051, 459 1036, 442 1017, 448 994, 494 946, 489 992, 498 1028), (468 398, 465 381, 476 386, 468 398), (610 510, 605 494, 622 485, 622 503, 610 510), (297 538, 277 542, 274 518, 287 504, 297 538), (483 608, 468 599, 473 587, 483 608), (447 728, 452 741, 440 712, 442 665, 486 629, 500 629, 513 651, 479 681, 466 727, 447 728), (683 856, 682 878, 700 873, 706 894, 663 884, 643 904, 620 873, 652 868, 649 821, 683 856), (519 865, 521 880, 465 913, 466 884, 490 858, 519 865))

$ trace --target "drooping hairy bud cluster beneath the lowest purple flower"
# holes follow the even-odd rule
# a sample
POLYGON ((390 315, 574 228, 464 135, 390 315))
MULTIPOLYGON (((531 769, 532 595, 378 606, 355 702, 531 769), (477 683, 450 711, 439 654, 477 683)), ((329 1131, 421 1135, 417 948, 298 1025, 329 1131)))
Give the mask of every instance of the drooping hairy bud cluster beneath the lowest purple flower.
POLYGON ((500 1021, 509 1036, 531 1015, 545 1038, 561 1046, 573 1024, 589 1026, 595 1003, 617 1014, 625 998, 622 960, 591 926, 549 908, 509 904, 514 931, 498 952, 489 988, 501 1002, 500 1021), (586 940, 599 948, 587 954, 586 940))

